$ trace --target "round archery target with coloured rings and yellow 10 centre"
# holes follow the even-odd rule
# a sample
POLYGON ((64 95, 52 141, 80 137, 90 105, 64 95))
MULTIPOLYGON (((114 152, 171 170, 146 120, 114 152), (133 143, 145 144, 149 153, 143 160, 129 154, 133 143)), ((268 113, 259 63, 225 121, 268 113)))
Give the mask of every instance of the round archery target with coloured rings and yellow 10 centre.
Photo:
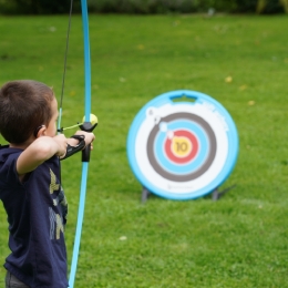
POLYGON ((213 192, 230 174, 237 154, 237 130, 228 112, 210 96, 188 90, 150 101, 127 137, 128 162, 137 179, 171 199, 213 192))

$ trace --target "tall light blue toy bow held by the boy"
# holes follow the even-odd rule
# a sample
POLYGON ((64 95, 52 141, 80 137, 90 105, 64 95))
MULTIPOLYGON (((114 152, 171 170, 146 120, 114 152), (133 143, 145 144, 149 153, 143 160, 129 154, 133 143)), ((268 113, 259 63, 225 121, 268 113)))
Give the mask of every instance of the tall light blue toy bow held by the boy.
MULTIPOLYGON (((88 20, 88 3, 86 0, 81 0, 82 9, 82 24, 84 34, 84 73, 85 73, 85 116, 84 123, 80 125, 81 130, 91 132, 95 125, 90 122, 91 113, 91 62, 90 62, 90 41, 89 41, 89 20, 88 20)), ((88 171, 90 161, 90 145, 82 151, 82 178, 81 178, 81 189, 80 189, 80 203, 78 212, 78 223, 76 223, 76 234, 74 239, 73 256, 70 270, 69 286, 73 288, 78 256, 81 240, 81 232, 85 208, 85 196, 86 196, 86 183, 88 183, 88 171)))

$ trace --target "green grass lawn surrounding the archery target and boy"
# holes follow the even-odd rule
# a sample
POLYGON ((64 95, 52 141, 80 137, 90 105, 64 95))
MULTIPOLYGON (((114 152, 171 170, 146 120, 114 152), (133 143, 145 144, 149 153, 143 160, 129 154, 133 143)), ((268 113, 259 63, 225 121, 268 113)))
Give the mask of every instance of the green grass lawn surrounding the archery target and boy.
MULTIPOLYGON (((75 287, 287 286, 286 24, 287 16, 90 16, 92 111, 99 127, 75 287), (218 202, 152 196, 142 205, 126 158, 127 132, 144 104, 177 89, 206 93, 232 114, 240 148, 223 188, 237 186, 218 202)), ((0 84, 35 79, 60 96, 66 25, 65 17, 1 17, 0 84)), ((63 126, 84 113, 78 16, 70 40, 63 126)), ((71 260, 78 155, 63 163, 62 174, 71 260)), ((3 261, 9 250, 2 208, 0 217, 3 261)), ((0 285, 3 277, 0 268, 0 285)))

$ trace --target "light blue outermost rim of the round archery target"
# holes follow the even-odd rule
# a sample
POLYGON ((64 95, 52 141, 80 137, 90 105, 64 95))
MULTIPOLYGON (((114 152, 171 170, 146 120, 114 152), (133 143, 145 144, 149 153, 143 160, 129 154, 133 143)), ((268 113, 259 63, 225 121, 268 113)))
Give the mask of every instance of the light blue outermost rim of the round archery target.
MULTIPOLYGON (((179 102, 183 104, 184 102, 179 102)), ((189 103, 189 102, 187 102, 189 103)), ((137 115, 134 117, 132 125, 128 131, 127 135, 127 142, 126 142, 126 152, 127 152, 127 158, 130 166, 138 179, 138 182, 146 187, 150 192, 164 197, 168 199, 175 199, 175 200, 185 200, 185 199, 194 199, 202 196, 205 196, 209 193, 212 193, 215 188, 219 187, 226 178, 230 175, 236 161, 238 156, 238 150, 239 150, 239 140, 238 140, 238 133, 236 125, 227 112, 227 110, 216 100, 213 97, 200 93, 196 91, 189 91, 189 90, 177 90, 177 91, 171 91, 164 94, 161 94, 153 100, 151 100, 148 103, 146 103, 137 113, 137 115), (208 183, 206 186, 198 191, 194 191, 192 193, 183 193, 183 194, 176 194, 171 193, 168 191, 161 189, 156 187, 151 181, 148 181, 141 172, 138 163, 136 162, 135 157, 135 140, 137 135, 137 131, 140 126, 142 125, 142 122, 146 119, 146 110, 150 106, 161 107, 162 105, 165 105, 167 103, 177 105, 177 102, 173 102, 173 99, 182 97, 185 95, 186 97, 195 100, 195 102, 202 103, 202 102, 208 102, 213 104, 217 111, 220 112, 220 114, 225 117, 225 121, 229 127, 229 131, 227 132, 227 138, 228 138, 228 153, 227 153, 227 160, 225 162, 225 165, 220 173, 213 179, 210 183, 208 183)))

